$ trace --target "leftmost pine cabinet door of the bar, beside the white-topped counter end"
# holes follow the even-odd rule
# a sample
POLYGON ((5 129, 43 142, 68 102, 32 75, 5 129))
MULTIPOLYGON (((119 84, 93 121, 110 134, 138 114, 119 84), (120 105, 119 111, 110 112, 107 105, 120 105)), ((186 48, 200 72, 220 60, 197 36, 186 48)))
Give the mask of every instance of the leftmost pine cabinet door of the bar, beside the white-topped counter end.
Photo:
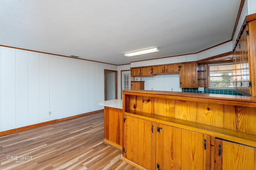
POLYGON ((146 169, 156 169, 156 122, 126 116, 123 156, 146 169))

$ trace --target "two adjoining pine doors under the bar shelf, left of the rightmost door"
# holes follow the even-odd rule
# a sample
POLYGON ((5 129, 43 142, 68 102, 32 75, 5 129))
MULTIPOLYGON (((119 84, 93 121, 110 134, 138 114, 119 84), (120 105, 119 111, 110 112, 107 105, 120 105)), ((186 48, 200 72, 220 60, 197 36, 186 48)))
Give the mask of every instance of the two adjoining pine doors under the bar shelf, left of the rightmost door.
POLYGON ((148 170, 210 169, 209 135, 124 117, 126 159, 148 170))

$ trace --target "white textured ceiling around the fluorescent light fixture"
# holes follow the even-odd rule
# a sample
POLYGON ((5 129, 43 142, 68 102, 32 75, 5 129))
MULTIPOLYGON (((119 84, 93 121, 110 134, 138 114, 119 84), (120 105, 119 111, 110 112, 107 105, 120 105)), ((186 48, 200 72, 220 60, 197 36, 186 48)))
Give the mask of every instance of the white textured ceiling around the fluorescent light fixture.
POLYGON ((240 0, 0 0, 0 45, 110 64, 232 39, 240 0), (134 57, 124 53, 159 47, 134 57))

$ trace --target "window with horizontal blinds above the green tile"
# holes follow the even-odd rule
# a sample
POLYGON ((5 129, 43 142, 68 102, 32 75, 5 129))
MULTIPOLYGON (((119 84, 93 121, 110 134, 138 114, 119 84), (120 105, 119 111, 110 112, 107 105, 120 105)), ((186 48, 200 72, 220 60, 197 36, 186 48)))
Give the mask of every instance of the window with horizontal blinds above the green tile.
POLYGON ((232 63, 208 64, 209 88, 234 89, 235 76, 232 63))

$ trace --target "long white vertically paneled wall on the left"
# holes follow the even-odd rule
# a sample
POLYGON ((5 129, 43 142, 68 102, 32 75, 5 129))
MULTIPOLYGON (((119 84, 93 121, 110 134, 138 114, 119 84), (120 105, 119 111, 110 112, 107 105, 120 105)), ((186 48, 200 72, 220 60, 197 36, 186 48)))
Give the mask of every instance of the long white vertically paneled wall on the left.
POLYGON ((117 66, 0 47, 0 131, 103 109, 104 69, 117 66))

